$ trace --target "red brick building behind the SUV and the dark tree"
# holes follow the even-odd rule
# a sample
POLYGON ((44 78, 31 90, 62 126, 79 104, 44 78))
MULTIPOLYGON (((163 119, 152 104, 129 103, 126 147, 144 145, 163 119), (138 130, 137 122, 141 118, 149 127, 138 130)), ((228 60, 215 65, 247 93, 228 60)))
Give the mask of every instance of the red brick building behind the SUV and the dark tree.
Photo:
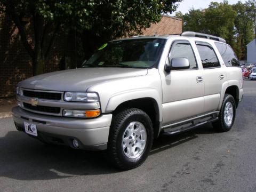
MULTIPOLYGON (((29 41, 33 38, 33 28, 30 23, 25 23, 25 27, 30 34, 27 34, 29 41)), ((182 20, 168 15, 163 15, 162 20, 153 23, 150 28, 143 32, 143 35, 164 35, 180 34, 182 32, 182 20)), ((65 57, 67 46, 65 38, 59 36, 55 41, 50 60, 45 67, 45 73, 60 70, 60 65, 65 57)), ((68 48, 67 48, 68 47, 68 48)), ((14 26, 11 18, 0 12, 0 98, 12 97, 15 94, 15 87, 18 82, 32 76, 32 60, 22 45, 18 29, 14 26)))

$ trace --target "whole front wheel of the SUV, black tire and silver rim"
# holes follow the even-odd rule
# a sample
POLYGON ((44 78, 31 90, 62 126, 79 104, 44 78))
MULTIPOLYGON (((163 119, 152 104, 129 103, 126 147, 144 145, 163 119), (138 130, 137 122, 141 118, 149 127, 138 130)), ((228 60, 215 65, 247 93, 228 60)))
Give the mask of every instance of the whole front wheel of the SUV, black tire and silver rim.
POLYGON ((146 160, 153 135, 153 125, 145 111, 125 109, 113 117, 107 158, 120 169, 133 169, 146 160))

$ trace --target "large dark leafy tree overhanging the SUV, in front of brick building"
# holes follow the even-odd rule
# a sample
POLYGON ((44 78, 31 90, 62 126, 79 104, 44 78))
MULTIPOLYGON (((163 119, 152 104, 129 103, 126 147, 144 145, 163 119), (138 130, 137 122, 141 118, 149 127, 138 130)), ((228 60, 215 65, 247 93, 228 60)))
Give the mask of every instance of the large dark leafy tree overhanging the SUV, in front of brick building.
POLYGON ((181 0, 0 0, 19 29, 21 41, 33 59, 33 75, 43 73, 45 62, 61 30, 107 34, 111 37, 139 34, 161 13, 172 12, 181 0), (33 42, 28 41, 22 18, 33 25, 33 42), (50 36, 50 41, 46 41, 50 36))

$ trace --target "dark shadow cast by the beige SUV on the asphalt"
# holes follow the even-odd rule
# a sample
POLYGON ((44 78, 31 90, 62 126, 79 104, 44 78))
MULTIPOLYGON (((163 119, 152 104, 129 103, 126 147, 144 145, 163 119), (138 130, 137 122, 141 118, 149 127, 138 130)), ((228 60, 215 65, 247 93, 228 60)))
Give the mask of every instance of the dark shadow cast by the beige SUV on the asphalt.
MULTIPOLYGON (((150 155, 175 147, 198 137, 216 133, 205 125, 179 135, 160 137, 150 155)), ((106 163, 102 151, 74 150, 65 146, 45 145, 18 131, 0 138, 0 177, 17 180, 48 180, 79 175, 120 172, 106 163)))

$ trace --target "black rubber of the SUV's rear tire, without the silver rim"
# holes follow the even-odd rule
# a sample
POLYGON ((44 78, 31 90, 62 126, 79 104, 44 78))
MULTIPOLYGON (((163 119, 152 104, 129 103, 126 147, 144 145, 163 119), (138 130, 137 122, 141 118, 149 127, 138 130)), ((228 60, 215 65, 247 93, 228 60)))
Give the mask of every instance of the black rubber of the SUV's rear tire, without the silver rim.
POLYGON ((235 117, 236 117, 235 99, 232 95, 225 94, 222 105, 221 105, 220 113, 219 113, 219 119, 218 119, 218 121, 213 122, 212 125, 213 125, 214 129, 216 129, 219 132, 227 132, 233 126, 233 124, 235 122, 235 117), (228 125, 224 119, 225 118, 225 106, 226 106, 227 102, 230 102, 231 105, 233 106, 233 119, 232 119, 230 125, 228 125))

